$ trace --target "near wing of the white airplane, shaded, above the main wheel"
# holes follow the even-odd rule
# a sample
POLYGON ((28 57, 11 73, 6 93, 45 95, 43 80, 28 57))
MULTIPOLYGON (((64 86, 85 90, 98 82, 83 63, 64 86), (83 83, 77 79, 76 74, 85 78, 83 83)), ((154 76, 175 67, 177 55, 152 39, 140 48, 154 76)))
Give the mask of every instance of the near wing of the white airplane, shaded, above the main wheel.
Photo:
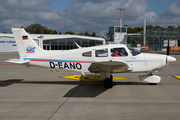
POLYGON ((128 64, 124 61, 103 61, 92 63, 88 70, 92 73, 110 72, 122 73, 132 71, 128 64))

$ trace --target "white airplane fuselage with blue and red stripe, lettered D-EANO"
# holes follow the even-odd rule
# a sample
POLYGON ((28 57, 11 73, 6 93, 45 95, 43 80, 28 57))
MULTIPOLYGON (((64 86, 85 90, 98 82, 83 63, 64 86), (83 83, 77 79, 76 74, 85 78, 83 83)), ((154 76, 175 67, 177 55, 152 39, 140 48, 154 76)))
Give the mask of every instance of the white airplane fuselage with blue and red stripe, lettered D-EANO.
POLYGON ((153 72, 166 66, 166 55, 140 53, 123 44, 110 44, 67 51, 47 51, 44 54, 29 55, 29 65, 47 68, 68 69, 89 72, 92 63, 102 61, 123 61, 131 72, 153 72), (119 56, 113 56, 119 52, 119 56))

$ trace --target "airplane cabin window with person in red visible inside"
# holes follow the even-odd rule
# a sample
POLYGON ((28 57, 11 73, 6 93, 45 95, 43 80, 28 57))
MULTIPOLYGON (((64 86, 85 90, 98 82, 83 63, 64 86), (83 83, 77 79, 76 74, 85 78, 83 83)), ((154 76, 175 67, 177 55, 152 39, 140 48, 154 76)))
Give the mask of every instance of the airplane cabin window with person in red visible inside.
POLYGON ((125 48, 112 48, 111 49, 111 56, 112 57, 123 57, 128 56, 125 48))

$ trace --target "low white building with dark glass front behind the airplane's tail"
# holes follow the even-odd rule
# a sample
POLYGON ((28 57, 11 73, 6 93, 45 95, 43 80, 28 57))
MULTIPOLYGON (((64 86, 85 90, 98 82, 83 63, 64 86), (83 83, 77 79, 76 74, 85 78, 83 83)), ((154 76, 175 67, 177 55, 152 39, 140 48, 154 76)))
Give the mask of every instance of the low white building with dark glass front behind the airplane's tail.
MULTIPOLYGON (((76 49, 75 42, 81 47, 105 44, 105 39, 80 35, 30 34, 44 50, 76 49)), ((0 52, 18 52, 13 34, 0 33, 0 52)))

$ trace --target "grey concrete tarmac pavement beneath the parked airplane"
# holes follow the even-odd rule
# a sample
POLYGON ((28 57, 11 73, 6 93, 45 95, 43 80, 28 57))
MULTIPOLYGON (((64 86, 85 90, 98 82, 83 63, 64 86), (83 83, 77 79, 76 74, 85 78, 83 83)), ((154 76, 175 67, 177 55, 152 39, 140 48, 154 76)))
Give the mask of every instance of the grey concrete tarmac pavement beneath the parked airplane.
POLYGON ((180 55, 155 73, 162 81, 149 85, 142 73, 113 74, 112 89, 101 81, 79 81, 62 76, 81 75, 67 70, 13 65, 4 60, 18 54, 0 54, 0 120, 179 120, 180 55))

